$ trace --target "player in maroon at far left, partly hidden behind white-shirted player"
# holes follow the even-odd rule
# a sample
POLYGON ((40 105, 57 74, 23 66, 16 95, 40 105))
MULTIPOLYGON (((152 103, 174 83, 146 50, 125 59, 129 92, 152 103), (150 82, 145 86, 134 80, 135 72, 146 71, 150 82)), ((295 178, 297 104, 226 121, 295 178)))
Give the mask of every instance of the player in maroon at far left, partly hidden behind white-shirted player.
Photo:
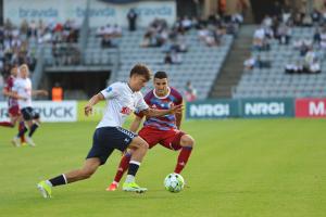
MULTIPOLYGON (((10 76, 5 81, 5 86, 3 87, 3 95, 8 97, 8 114, 10 122, 0 122, 0 126, 2 127, 14 127, 17 122, 20 122, 18 130, 24 128, 24 122, 22 120, 21 111, 18 106, 18 95, 16 95, 13 91, 13 85, 18 75, 18 67, 14 66, 11 68, 10 76)), ((24 142, 24 135, 21 137, 21 142, 24 142)))

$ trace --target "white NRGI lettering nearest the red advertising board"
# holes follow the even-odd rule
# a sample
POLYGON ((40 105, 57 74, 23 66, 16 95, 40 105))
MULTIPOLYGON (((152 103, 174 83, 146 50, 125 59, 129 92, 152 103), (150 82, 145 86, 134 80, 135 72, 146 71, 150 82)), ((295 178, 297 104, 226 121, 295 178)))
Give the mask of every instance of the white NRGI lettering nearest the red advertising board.
POLYGON ((284 102, 247 102, 244 104, 246 115, 284 115, 284 102))

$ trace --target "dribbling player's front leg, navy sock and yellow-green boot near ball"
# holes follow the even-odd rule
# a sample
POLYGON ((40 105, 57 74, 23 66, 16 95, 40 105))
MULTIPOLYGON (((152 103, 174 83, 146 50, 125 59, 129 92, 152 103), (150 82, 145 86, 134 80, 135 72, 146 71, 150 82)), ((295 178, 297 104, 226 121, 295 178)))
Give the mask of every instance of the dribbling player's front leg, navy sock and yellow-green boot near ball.
POLYGON ((147 191, 147 189, 140 188, 138 184, 136 184, 135 176, 138 171, 138 168, 140 166, 140 163, 142 162, 143 156, 147 153, 148 143, 138 136, 133 139, 128 148, 134 150, 134 152, 129 162, 128 174, 123 184, 123 190, 141 193, 147 191))

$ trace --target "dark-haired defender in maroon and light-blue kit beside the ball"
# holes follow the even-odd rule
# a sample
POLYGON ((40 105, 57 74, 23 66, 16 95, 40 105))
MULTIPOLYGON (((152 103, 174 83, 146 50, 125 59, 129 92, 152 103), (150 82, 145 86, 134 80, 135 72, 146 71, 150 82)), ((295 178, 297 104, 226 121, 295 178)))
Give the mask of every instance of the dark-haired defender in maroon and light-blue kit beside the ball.
MULTIPOLYGON (((168 87, 165 72, 155 73, 153 81, 154 89, 145 97, 146 103, 151 108, 168 110, 172 105, 183 104, 181 94, 176 89, 168 87)), ((136 117, 130 126, 130 130, 134 132, 139 128, 143 117, 141 112, 136 112, 135 115, 136 117)), ((149 149, 160 143, 162 146, 173 151, 180 150, 174 169, 176 174, 180 174, 186 166, 195 143, 190 135, 180 130, 181 118, 181 113, 168 114, 162 117, 146 117, 143 127, 138 132, 138 135, 148 142, 149 149)), ((122 176, 128 168, 131 153, 131 150, 129 150, 122 157, 115 178, 106 191, 115 191, 117 189, 122 176)))

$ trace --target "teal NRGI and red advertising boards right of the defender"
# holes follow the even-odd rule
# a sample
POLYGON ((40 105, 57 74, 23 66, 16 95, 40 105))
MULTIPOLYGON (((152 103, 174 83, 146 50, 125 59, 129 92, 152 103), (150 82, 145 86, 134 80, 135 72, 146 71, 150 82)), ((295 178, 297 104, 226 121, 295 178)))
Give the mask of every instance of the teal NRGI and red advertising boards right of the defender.
POLYGON ((186 105, 187 119, 326 117, 326 99, 202 100, 186 105))

